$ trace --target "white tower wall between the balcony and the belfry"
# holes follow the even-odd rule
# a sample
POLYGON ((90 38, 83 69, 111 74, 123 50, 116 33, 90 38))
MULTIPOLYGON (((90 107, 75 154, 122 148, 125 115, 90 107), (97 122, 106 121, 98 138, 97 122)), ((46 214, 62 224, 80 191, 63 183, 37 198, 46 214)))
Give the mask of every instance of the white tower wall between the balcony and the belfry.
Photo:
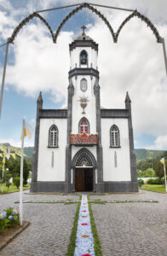
POLYGON ((72 79, 74 85, 74 96, 72 97, 72 133, 78 133, 78 124, 80 119, 83 117, 89 120, 89 133, 96 133, 96 113, 95 113, 95 95, 94 95, 94 84, 95 78, 90 79, 89 76, 78 76, 78 79, 72 79), (88 84, 88 90, 83 92, 80 89, 80 81, 81 79, 86 79, 88 84), (80 96, 88 97, 89 102, 87 103, 87 107, 84 109, 81 108, 79 102, 80 96))

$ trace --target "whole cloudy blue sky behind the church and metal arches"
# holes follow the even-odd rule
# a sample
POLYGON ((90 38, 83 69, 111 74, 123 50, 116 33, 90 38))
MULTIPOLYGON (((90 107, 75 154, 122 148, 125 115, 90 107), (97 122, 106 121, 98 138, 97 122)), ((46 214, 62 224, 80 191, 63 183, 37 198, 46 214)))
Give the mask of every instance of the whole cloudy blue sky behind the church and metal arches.
MULTIPOLYGON (((80 3, 75 0, 0 0, 0 44, 6 43, 21 20, 34 11, 80 3)), ((166 0, 96 0, 87 3, 137 9, 156 26, 166 42, 166 0)), ((95 7, 110 22, 114 32, 131 12, 95 7)), ((60 22, 74 8, 41 13, 56 32, 60 22)), ((81 34, 99 44, 101 107, 124 108, 129 91, 132 108, 135 148, 167 149, 167 76, 162 44, 158 44, 147 24, 137 17, 128 22, 114 44, 111 32, 97 15, 83 9, 62 27, 53 44, 48 28, 33 19, 9 44, 8 65, 0 119, 0 143, 20 147, 22 119, 35 129, 37 96, 43 93, 43 108, 65 108, 67 103, 69 44, 81 34)), ((5 46, 0 48, 2 81, 5 46)), ((33 146, 34 134, 25 146, 33 146)))

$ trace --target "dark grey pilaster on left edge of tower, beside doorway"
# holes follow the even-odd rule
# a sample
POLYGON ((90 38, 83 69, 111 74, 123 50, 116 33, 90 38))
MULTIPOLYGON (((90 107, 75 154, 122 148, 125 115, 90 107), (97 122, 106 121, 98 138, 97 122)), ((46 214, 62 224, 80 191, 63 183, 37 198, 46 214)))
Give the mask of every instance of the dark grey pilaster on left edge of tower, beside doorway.
POLYGON ((71 168, 72 168, 72 145, 70 144, 70 134, 72 132, 72 96, 74 87, 72 81, 68 86, 68 108, 67 108, 67 136, 66 136, 66 186, 65 192, 71 192, 71 168))

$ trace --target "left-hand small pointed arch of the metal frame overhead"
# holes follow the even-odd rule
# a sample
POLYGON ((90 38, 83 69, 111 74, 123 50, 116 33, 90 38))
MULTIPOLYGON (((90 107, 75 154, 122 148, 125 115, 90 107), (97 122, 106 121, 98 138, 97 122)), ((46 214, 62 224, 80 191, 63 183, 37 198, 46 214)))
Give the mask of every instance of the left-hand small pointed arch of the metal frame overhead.
POLYGON ((50 32, 50 34, 51 34, 51 37, 52 37, 52 39, 53 39, 53 43, 55 43, 55 41, 54 41, 54 40, 55 40, 55 39, 54 39, 54 32, 53 32, 53 30, 51 29, 51 27, 49 26, 49 23, 48 23, 46 20, 44 20, 44 18, 43 18, 41 15, 39 15, 39 14, 37 14, 37 13, 33 13, 32 15, 27 16, 24 20, 22 20, 22 21, 20 22, 20 24, 19 24, 18 26, 15 27, 14 32, 12 33, 12 36, 9 38, 9 43, 14 43, 14 39, 15 39, 15 37, 17 36, 18 32, 20 32, 20 29, 21 29, 23 26, 25 26, 26 23, 29 22, 30 20, 32 20, 34 17, 37 17, 39 20, 42 20, 43 23, 48 27, 49 32, 50 32))

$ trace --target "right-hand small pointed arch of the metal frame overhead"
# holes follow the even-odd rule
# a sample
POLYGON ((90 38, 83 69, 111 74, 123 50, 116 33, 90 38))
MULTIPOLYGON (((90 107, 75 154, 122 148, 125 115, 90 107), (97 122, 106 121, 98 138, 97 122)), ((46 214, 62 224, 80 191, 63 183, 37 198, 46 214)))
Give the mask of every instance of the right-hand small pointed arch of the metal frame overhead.
POLYGON ((129 15, 124 21, 123 23, 118 27, 118 31, 115 34, 115 43, 118 42, 118 35, 120 33, 120 31, 122 30, 122 28, 124 27, 124 25, 130 21, 130 19, 134 18, 135 16, 137 16, 139 19, 145 21, 147 23, 147 26, 149 26, 151 28, 151 30, 153 31, 155 37, 157 38, 157 42, 158 43, 162 43, 162 38, 159 36, 158 30, 157 28, 153 25, 153 23, 151 22, 151 20, 149 20, 146 16, 141 15, 137 10, 135 10, 131 15, 129 15))

